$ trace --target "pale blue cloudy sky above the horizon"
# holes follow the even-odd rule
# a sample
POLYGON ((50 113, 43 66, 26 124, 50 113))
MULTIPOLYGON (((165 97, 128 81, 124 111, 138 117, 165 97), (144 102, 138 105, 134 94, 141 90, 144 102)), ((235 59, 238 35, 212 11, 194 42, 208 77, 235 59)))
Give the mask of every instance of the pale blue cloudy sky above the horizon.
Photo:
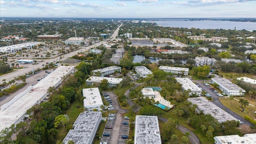
POLYGON ((0 0, 0 18, 256 18, 256 0, 0 0))

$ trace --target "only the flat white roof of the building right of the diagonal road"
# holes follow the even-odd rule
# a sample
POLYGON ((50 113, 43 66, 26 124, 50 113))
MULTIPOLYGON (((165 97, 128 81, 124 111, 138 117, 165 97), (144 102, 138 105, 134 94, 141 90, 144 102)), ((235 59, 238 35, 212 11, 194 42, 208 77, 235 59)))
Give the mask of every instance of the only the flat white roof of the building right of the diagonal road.
POLYGON ((245 92, 244 89, 240 88, 239 86, 237 86, 236 84, 233 84, 232 82, 230 82, 229 80, 227 80, 226 78, 211 78, 213 82, 217 83, 218 85, 221 85, 222 87, 224 87, 226 90, 242 90, 242 92, 245 92))

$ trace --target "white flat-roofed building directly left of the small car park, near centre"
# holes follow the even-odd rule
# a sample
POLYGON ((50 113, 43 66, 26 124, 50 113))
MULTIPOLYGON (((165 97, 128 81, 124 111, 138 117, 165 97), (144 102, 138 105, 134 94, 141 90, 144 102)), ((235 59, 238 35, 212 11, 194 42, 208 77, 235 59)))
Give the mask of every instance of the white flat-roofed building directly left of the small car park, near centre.
POLYGON ((98 111, 102 110, 100 106, 103 105, 103 102, 99 88, 84 88, 83 96, 84 108, 87 108, 88 111, 92 111, 94 109, 97 109, 98 111))

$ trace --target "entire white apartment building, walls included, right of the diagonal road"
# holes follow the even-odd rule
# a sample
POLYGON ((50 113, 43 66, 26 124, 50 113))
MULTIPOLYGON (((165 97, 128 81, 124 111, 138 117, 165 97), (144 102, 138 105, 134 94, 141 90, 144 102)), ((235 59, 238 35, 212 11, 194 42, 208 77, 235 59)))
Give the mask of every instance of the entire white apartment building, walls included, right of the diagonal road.
POLYGON ((227 96, 244 96, 245 90, 233 84, 226 78, 211 78, 212 82, 218 84, 218 88, 227 96))

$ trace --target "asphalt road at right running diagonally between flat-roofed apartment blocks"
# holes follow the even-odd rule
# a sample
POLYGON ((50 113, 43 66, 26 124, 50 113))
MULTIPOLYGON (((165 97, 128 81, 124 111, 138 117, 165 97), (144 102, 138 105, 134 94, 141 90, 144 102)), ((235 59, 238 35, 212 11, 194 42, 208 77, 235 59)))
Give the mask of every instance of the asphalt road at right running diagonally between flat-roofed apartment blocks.
MULTIPOLYGON (((224 106, 221 102, 219 97, 216 95, 215 92, 213 92, 212 90, 210 90, 210 86, 205 86, 202 82, 202 80, 192 80, 193 82, 196 82, 201 88, 203 88, 206 93, 212 95, 213 101, 212 103, 214 103, 216 106, 218 106, 219 108, 221 108, 222 110, 228 112, 228 114, 231 114, 232 116, 234 116, 234 118, 240 120, 241 122, 244 122, 244 124, 248 125, 248 126, 254 126, 252 123, 248 122, 247 120, 245 120, 243 117, 239 116, 238 114, 236 114, 235 112, 233 112, 232 110, 228 109, 226 106, 224 106)), ((228 101, 229 98, 226 98, 228 101)))

